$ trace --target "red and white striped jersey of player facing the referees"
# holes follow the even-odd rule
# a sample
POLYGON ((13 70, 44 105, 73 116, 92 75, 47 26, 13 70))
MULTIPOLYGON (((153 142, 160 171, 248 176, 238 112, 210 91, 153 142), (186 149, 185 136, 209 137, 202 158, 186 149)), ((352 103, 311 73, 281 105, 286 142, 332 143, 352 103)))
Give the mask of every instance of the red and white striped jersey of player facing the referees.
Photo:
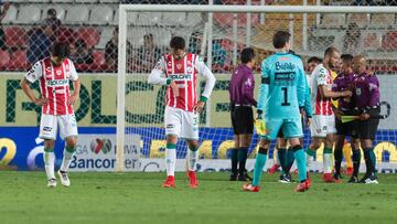
POLYGON ((311 74, 311 105, 314 115, 333 115, 331 98, 321 98, 320 86, 326 86, 332 90, 331 71, 323 64, 315 66, 311 74))

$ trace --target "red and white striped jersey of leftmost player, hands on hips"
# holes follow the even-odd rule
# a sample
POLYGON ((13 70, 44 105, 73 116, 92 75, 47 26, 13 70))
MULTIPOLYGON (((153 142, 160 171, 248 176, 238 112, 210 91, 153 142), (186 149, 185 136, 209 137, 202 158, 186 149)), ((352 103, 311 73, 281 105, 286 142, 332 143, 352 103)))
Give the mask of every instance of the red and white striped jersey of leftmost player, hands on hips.
POLYGON ((50 57, 36 62, 26 73, 25 78, 30 83, 40 81, 41 95, 49 99, 42 106, 45 115, 71 115, 73 106, 67 104, 69 99, 69 81, 77 81, 78 75, 73 62, 65 58, 60 66, 54 66, 50 57))

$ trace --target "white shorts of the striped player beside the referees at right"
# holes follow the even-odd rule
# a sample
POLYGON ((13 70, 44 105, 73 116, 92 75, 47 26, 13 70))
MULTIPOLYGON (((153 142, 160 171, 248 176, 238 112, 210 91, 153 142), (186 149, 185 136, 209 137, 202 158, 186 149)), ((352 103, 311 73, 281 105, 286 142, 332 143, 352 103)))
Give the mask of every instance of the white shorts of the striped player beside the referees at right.
POLYGON ((325 138, 328 134, 336 134, 334 115, 313 115, 310 124, 312 137, 325 138))

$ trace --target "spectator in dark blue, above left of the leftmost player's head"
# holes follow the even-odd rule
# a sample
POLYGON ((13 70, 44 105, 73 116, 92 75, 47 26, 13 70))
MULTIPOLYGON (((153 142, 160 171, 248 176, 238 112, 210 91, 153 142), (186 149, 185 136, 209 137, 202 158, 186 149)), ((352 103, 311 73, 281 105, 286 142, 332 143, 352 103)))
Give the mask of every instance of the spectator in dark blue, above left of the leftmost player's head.
POLYGON ((28 62, 33 65, 39 60, 50 56, 51 45, 54 38, 54 26, 51 22, 44 21, 40 28, 28 33, 28 62))

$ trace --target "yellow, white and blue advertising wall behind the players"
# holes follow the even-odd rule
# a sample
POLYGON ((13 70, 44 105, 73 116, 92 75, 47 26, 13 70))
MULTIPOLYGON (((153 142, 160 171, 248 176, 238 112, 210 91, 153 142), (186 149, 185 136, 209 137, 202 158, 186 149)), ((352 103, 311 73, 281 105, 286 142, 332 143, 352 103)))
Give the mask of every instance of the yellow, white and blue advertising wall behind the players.
MULTIPOLYGON (((40 108, 30 103, 19 87, 23 77, 22 73, 0 75, 0 169, 13 170, 42 170, 43 141, 37 139, 40 108)), ((397 79, 394 76, 379 75, 382 86, 382 100, 388 102, 393 108, 397 105, 394 97, 394 86, 397 79)), ((228 78, 229 76, 217 75, 217 84, 212 96, 212 124, 210 127, 201 128, 201 162, 200 171, 223 171, 229 168, 227 158, 228 148, 233 147, 233 131, 230 129, 228 114, 228 78), (204 135, 205 134, 205 135, 204 135), (205 138, 204 138, 205 136, 205 138)), ((256 85, 259 85, 259 77, 256 85)), ((75 106, 79 127, 79 143, 77 153, 72 162, 74 171, 114 171, 115 169, 115 142, 116 142, 116 89, 117 75, 114 74, 81 74, 82 96, 75 106)), ((135 108, 127 108, 126 124, 135 127, 137 137, 132 138, 125 147, 126 171, 161 171, 164 170, 163 153, 165 141, 162 127, 162 89, 157 86, 147 85, 142 77, 127 76, 126 100, 153 102, 148 108, 140 108, 138 114, 135 108), (147 98, 135 97, 137 92, 148 92, 147 98), (153 100, 155 99, 155 100, 153 100), (157 117, 154 124, 146 124, 148 116, 157 117), (148 138, 143 135, 150 130, 155 136, 148 138)), ((33 86, 37 89, 37 86, 33 86)), ((142 95, 140 95, 142 96, 142 95)), ((382 172, 397 172, 397 120, 393 114, 387 120, 382 120, 377 139, 376 156, 382 172)), ((202 115, 202 127, 205 122, 205 114, 202 115)), ((152 120, 152 119, 151 119, 152 120)), ((305 143, 309 142, 309 132, 305 130, 305 143)), ((254 138, 253 146, 258 139, 254 138)), ((185 145, 178 146, 179 159, 185 157, 185 145)), ((62 161, 63 143, 56 143, 56 166, 62 161)), ((318 152, 318 161, 321 162, 322 150, 318 152)), ((256 149, 251 147, 250 158, 255 158, 256 149)), ((272 158, 272 151, 270 152, 272 158)), ((320 163, 319 163, 320 164, 320 163)), ((247 164, 253 169, 254 161, 247 164)), ((268 162, 271 166, 271 162, 268 162)), ((320 171, 321 166, 314 167, 320 171)), ((178 170, 184 170, 184 162, 178 162, 178 170)))

